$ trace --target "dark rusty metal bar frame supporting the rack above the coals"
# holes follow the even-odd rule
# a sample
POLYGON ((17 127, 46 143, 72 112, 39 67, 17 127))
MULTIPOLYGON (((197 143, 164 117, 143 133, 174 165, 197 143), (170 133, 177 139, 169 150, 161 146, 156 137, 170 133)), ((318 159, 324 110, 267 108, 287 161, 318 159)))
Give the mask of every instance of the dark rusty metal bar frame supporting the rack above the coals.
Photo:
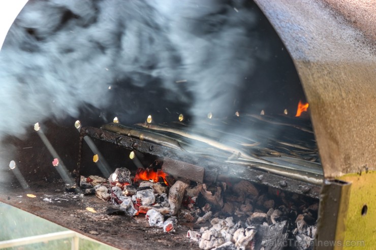
MULTIPOLYGON (((267 185, 280 190, 299 193, 314 198, 318 198, 320 195, 321 186, 317 184, 306 183, 289 177, 268 173, 254 167, 213 161, 211 159, 188 154, 183 151, 170 149, 164 146, 152 144, 151 142, 142 141, 126 135, 121 135, 90 126, 82 127, 80 130, 80 150, 77 166, 78 173, 80 172, 81 168, 82 142, 85 136, 111 142, 114 145, 121 146, 129 150, 135 150, 143 154, 168 159, 170 162, 184 162, 194 165, 196 169, 203 168, 203 180, 205 180, 205 182, 215 182, 217 176, 226 175, 230 177, 240 177, 250 182, 267 185)), ((80 174, 78 174, 78 176, 80 176, 80 174)), ((195 179, 195 181, 200 180, 195 179)))

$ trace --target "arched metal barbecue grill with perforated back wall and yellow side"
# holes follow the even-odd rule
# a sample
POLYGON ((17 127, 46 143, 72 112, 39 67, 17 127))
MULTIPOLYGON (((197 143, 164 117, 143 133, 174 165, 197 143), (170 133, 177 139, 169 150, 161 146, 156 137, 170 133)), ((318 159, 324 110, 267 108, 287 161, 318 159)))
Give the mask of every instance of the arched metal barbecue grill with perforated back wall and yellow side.
MULTIPOLYGON (((260 59, 252 81, 232 86, 235 98, 209 101, 197 115, 197 107, 178 98, 158 98, 176 90, 156 84, 146 86, 150 92, 144 94, 142 86, 112 83, 106 91, 116 93, 106 108, 81 106, 77 117, 35 121, 39 123, 29 125, 26 137, 3 138, 12 147, 2 152, 7 168, 1 169, 0 201, 115 247, 177 248, 179 235, 170 245, 160 234, 140 243, 134 237, 144 229, 128 219, 106 221, 86 215, 85 207, 103 205, 89 196, 53 205, 17 198, 78 187, 81 175, 107 178, 124 165, 135 170, 161 161, 164 172, 199 184, 241 178, 320 199, 317 242, 364 240, 370 249, 375 243, 367 222, 375 219, 376 117, 370 111, 376 108, 376 74, 374 26, 366 20, 373 17, 372 9, 351 1, 255 2, 250 9, 260 20, 249 32, 260 35, 260 41, 271 41, 273 60, 260 59), (127 106, 132 116, 124 119, 121 103, 127 93, 140 98, 127 106), (298 103, 309 103, 299 116, 298 103), (131 153, 136 157, 131 159, 131 153), (129 232, 119 232, 118 227, 127 223, 129 232), (103 233, 90 234, 90 227, 103 233)), ((233 11, 241 13, 235 7, 233 11)), ((28 30, 35 37, 37 31, 28 30)), ((189 82, 175 81, 186 98, 193 95, 184 86, 189 82)))

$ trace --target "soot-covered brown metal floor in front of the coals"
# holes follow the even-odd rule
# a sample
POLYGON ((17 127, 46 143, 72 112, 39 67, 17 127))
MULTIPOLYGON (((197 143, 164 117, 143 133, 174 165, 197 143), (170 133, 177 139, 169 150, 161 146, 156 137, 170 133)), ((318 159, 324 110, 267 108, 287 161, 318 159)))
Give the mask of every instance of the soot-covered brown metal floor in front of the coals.
POLYGON ((180 224, 174 234, 150 227, 145 217, 108 215, 110 206, 95 195, 64 193, 62 182, 34 183, 28 190, 15 185, 2 189, 0 200, 63 227, 120 249, 200 249, 186 238, 190 224, 180 224), (36 197, 27 197, 33 194, 36 197), (95 209, 94 212, 86 208, 95 209))

